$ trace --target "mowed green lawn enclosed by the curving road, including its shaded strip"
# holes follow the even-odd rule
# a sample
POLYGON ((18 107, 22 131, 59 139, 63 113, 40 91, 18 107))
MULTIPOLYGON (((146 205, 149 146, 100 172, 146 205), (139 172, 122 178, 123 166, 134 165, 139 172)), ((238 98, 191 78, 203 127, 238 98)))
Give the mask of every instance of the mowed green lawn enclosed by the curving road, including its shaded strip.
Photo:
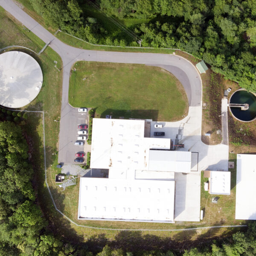
POLYGON ((79 61, 74 69, 69 103, 96 108, 96 117, 176 121, 187 114, 183 86, 159 67, 79 61))

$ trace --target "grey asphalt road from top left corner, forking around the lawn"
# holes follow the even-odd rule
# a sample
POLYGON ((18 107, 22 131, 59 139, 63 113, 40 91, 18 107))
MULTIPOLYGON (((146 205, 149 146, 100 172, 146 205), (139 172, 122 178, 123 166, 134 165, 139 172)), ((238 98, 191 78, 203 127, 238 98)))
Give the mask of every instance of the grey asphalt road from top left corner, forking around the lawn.
MULTIPOLYGON (((200 111, 197 111, 197 122, 200 127, 198 129, 198 136, 200 135, 201 137, 202 83, 198 71, 186 59, 177 55, 160 53, 107 52, 71 47, 58 40, 58 38, 55 38, 55 36, 48 32, 47 29, 23 12, 23 10, 20 9, 12 0, 0 0, 0 5, 45 43, 51 42, 50 47, 60 55, 63 61, 63 85, 58 154, 59 162, 67 163, 67 155, 70 154, 70 149, 68 147, 70 144, 70 130, 68 127, 73 125, 71 122, 76 124, 76 120, 73 120, 72 117, 73 108, 68 104, 70 70, 76 61, 146 64, 163 67, 173 73, 180 80, 181 84, 183 84, 188 97, 189 108, 200 108, 200 111)), ((218 151, 218 145, 215 146, 215 150, 218 151)), ((68 162, 70 161, 68 160, 68 162)))

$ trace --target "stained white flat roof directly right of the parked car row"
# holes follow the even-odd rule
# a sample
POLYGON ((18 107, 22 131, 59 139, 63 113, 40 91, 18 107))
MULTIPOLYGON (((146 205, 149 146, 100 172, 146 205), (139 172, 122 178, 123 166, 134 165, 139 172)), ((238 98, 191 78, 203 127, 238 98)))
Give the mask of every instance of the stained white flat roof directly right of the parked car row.
POLYGON ((90 168, 148 170, 149 149, 169 149, 171 140, 144 138, 144 127, 144 120, 94 118, 90 168))

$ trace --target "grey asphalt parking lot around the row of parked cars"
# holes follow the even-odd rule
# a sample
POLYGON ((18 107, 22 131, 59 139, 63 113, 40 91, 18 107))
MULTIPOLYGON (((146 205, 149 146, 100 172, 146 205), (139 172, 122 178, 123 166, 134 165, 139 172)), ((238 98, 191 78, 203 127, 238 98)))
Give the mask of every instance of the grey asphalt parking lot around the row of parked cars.
MULTIPOLYGON (((59 163, 74 163, 76 153, 84 151, 85 160, 88 151, 88 145, 85 142, 84 146, 74 145, 78 136, 78 125, 89 123, 89 116, 87 113, 79 113, 78 108, 68 106, 68 118, 62 117, 61 125, 68 131, 66 137, 62 137, 59 145, 58 162, 59 163)), ((87 130, 87 129, 86 129, 87 130)), ((88 131, 88 130, 87 130, 88 131)), ((86 135, 87 136, 87 135, 86 135)), ((81 164, 81 163, 78 163, 81 164)))

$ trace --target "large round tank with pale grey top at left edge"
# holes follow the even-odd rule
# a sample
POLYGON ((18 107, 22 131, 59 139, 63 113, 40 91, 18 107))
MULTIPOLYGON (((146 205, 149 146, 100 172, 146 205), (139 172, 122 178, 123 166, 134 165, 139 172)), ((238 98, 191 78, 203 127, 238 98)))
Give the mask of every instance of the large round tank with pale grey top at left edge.
POLYGON ((26 106, 38 96, 42 84, 41 67, 30 55, 17 51, 0 54, 0 105, 26 106))

